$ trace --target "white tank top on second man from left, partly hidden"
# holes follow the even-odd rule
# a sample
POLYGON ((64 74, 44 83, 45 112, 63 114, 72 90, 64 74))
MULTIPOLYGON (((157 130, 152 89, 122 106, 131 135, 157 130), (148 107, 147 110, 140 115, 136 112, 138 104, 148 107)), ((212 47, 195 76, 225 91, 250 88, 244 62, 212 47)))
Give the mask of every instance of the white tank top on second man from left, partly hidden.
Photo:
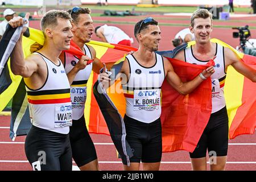
MULTIPOLYGON (((85 55, 92 59, 89 48, 84 46, 85 55)), ((71 55, 70 53, 65 53, 65 71, 69 73, 73 67, 77 64, 79 58, 71 55)), ((92 72, 92 65, 90 63, 86 65, 85 69, 80 70, 75 76, 71 84, 71 102, 72 102, 72 112, 73 119, 77 120, 84 115, 84 107, 86 101, 86 84, 90 77, 90 72, 92 72)))

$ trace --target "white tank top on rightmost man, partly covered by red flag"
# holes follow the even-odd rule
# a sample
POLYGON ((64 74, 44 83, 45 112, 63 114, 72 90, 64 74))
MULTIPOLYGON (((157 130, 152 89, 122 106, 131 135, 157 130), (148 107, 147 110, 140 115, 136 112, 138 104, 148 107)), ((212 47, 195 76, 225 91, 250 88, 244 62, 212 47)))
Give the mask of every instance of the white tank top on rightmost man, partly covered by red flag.
MULTIPOLYGON (((210 76, 212 80, 212 113, 225 107, 224 85, 225 85, 225 60, 224 47, 216 43, 216 58, 214 59, 215 72, 210 76)), ((207 64, 208 61, 196 59, 193 55, 192 46, 185 49, 185 61, 192 64, 207 64)))

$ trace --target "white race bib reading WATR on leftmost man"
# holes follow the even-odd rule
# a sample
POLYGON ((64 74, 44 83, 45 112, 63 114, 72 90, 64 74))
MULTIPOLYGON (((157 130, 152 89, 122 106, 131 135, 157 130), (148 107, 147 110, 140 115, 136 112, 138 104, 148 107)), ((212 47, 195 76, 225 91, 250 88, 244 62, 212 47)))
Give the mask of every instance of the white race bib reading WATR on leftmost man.
POLYGON ((55 105, 55 125, 54 127, 72 126, 72 106, 71 102, 55 105))

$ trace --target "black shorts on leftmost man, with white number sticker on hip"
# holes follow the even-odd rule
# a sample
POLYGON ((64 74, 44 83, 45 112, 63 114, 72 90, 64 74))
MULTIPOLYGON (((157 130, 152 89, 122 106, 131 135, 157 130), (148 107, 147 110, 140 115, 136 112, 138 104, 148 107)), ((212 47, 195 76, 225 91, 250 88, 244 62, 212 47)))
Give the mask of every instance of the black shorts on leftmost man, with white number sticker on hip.
POLYGON ((72 151, 68 134, 32 125, 25 140, 25 152, 36 171, 72 171, 72 151))

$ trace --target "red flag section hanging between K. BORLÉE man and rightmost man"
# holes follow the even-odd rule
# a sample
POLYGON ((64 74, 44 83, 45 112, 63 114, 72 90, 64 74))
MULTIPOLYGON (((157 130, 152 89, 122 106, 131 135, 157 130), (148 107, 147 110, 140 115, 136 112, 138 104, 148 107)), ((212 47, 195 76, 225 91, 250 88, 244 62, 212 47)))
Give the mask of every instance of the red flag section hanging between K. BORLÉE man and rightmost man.
MULTIPOLYGON (((192 80, 209 65, 191 65, 170 59, 182 81, 192 80)), ((214 64, 214 63, 209 63, 214 64)), ((210 78, 192 93, 182 96, 165 80, 162 86, 163 152, 187 150, 193 152, 208 123, 212 111, 210 78)))

